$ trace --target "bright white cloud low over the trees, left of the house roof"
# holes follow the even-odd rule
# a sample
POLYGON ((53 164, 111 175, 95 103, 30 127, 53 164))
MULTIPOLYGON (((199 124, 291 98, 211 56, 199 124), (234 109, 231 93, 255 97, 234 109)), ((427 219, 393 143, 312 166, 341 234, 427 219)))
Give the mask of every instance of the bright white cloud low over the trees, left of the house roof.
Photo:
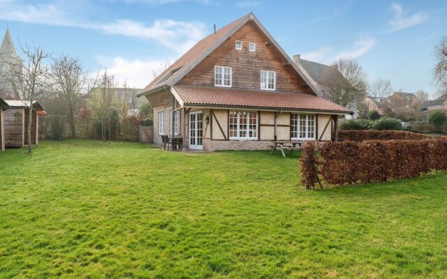
POLYGON ((100 56, 97 59, 108 73, 115 75, 119 84, 127 80, 129 87, 140 89, 149 84, 154 78, 154 71, 159 73, 161 65, 169 60, 128 60, 119 56, 114 58, 100 56))

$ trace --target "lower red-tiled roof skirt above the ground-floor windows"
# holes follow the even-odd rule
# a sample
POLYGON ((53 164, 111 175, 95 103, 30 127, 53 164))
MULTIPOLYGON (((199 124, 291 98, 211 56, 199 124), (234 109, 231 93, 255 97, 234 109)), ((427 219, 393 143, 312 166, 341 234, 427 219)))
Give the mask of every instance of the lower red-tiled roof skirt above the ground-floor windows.
POLYGON ((256 107, 284 110, 317 110, 349 113, 345 107, 305 93, 231 89, 210 86, 173 86, 184 105, 256 107))

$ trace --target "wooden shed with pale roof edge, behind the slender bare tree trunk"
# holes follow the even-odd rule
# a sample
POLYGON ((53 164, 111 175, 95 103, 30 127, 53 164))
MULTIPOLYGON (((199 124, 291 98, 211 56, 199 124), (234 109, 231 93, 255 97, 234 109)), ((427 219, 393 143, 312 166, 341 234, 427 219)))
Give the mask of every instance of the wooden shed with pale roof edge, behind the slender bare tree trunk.
MULTIPOLYGON (((6 100, 8 110, 3 112, 3 133, 6 147, 28 146, 27 128, 29 106, 26 100, 6 100)), ((31 145, 38 144, 39 115, 45 115, 43 107, 34 102, 31 110, 31 145)))

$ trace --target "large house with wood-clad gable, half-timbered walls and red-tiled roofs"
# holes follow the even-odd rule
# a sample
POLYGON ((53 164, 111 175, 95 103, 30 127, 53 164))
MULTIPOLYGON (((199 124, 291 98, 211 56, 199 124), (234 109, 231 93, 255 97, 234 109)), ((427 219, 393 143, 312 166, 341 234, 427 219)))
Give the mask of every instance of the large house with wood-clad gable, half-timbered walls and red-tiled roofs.
POLYGON ((318 97, 302 66, 249 13, 200 40, 138 96, 154 108, 154 143, 269 149, 272 140, 331 140, 351 112, 318 97))

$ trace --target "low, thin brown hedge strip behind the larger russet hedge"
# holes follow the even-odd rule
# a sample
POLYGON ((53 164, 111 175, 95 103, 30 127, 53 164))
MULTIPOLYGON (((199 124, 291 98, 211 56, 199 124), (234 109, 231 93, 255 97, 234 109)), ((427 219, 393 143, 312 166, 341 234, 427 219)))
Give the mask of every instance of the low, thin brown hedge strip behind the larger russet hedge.
POLYGON ((343 140, 423 140, 429 135, 421 135, 397 130, 339 130, 338 136, 343 140))

